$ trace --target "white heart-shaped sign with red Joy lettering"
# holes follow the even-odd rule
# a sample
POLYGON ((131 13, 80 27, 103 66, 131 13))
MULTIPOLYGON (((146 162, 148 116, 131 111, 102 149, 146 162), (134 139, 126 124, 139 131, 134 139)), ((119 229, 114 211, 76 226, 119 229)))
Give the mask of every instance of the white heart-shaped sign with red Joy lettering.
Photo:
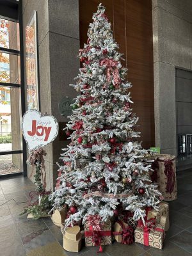
POLYGON ((28 110, 22 118, 22 133, 29 150, 44 147, 58 135, 58 121, 54 116, 28 110))

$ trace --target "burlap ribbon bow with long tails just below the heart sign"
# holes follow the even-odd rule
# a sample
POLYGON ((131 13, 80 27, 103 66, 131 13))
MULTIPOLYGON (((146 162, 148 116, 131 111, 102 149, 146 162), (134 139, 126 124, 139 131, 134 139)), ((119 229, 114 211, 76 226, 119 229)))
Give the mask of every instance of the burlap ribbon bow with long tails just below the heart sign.
POLYGON ((46 172, 45 172, 45 160, 44 160, 44 156, 46 156, 47 153, 43 148, 37 148, 36 150, 33 150, 30 152, 29 154, 29 158, 28 158, 28 163, 31 164, 32 166, 32 172, 31 175, 29 176, 29 179, 32 177, 33 172, 34 172, 34 167, 36 166, 36 164, 40 164, 41 166, 41 175, 42 175, 42 184, 44 189, 46 188, 47 184, 46 184, 46 172))

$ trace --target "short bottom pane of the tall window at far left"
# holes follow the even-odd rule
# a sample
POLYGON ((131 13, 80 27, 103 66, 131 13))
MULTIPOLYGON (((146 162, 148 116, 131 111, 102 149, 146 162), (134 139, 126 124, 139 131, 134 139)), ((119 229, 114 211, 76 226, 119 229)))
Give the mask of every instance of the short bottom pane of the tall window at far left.
POLYGON ((21 154, 0 155, 0 175, 21 172, 21 154))

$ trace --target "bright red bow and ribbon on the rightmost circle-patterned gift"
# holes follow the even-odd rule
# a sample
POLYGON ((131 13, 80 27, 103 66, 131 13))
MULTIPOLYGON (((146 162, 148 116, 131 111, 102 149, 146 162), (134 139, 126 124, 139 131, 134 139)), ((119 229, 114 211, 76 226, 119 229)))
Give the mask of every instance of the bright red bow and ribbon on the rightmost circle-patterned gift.
POLYGON ((154 218, 150 218, 148 221, 145 221, 145 225, 143 225, 142 220, 138 220, 138 227, 143 228, 143 239, 144 245, 149 246, 148 236, 150 230, 155 230, 159 232, 164 232, 163 228, 156 228, 156 220, 154 218))

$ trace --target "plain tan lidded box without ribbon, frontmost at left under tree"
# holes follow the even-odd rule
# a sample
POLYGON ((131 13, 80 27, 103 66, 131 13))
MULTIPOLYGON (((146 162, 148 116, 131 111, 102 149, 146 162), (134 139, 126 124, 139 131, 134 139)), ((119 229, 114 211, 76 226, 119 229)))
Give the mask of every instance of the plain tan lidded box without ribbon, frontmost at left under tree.
POLYGON ((82 234, 79 226, 67 228, 63 235, 63 248, 68 252, 81 250, 82 234))

